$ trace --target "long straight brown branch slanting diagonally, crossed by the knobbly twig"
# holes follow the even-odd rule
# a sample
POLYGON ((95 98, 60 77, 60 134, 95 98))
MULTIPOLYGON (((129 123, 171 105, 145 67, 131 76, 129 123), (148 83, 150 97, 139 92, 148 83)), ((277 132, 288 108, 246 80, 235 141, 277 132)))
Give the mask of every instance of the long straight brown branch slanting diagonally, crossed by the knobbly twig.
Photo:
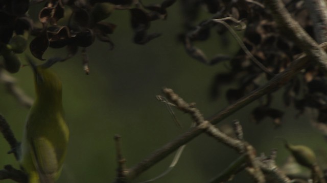
MULTIPOLYGON (((327 43, 323 43, 320 46, 324 50, 327 50, 327 43)), ((305 68, 311 62, 309 58, 310 57, 307 56, 306 54, 301 54, 296 60, 294 60, 291 63, 291 65, 284 72, 275 75, 271 80, 269 80, 263 86, 255 89, 247 96, 239 99, 236 103, 229 105, 228 107, 217 112, 211 117, 206 118, 205 120, 208 120, 213 125, 215 125, 219 123, 219 121, 230 116, 231 114, 235 113, 236 111, 245 107, 246 105, 250 104, 256 99, 259 99, 260 97, 266 94, 276 91, 277 89, 281 88, 286 83, 288 83, 291 79, 293 79, 296 76, 296 74, 299 73, 303 68, 305 68)), ((136 178, 142 172, 146 171, 151 166, 155 165, 157 162, 166 158, 168 155, 173 153, 178 147, 188 143, 189 141, 200 135, 202 132, 203 129, 199 128, 198 126, 191 128, 189 131, 178 136, 176 139, 158 148, 149 157, 147 157, 146 159, 144 159, 143 161, 139 162, 134 167, 129 169, 129 173, 127 175, 128 180, 132 180, 136 178)))

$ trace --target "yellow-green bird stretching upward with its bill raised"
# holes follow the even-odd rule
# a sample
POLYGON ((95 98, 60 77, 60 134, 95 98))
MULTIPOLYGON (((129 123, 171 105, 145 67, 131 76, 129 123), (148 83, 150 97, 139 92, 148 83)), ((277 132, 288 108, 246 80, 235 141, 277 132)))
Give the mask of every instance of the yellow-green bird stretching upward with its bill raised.
POLYGON ((54 72, 28 60, 34 72, 36 99, 26 120, 19 162, 29 183, 52 183, 60 175, 69 136, 62 85, 54 72))

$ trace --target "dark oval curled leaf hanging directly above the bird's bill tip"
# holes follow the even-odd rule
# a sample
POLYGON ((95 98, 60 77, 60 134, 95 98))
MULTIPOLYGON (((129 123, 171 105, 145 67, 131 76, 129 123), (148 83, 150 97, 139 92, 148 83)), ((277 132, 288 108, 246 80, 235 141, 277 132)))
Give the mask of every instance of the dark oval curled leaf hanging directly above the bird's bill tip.
POLYGON ((45 60, 42 58, 43 53, 49 47, 48 34, 43 31, 39 36, 35 37, 30 43, 30 50, 34 57, 45 60))

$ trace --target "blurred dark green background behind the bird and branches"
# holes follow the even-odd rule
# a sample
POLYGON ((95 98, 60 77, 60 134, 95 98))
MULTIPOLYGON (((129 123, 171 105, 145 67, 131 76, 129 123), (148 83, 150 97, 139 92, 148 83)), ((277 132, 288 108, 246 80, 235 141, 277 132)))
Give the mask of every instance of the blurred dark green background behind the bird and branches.
MULTIPOLYGON (((63 103, 66 121, 70 129, 68 155, 58 182, 112 182, 115 178, 116 157, 113 136, 122 136, 123 155, 127 166, 131 167, 152 151, 182 134, 191 125, 187 114, 179 111, 176 116, 182 124, 179 129, 169 114, 165 104, 156 100, 164 86, 173 88, 177 94, 196 106, 204 116, 210 116, 228 104, 224 95, 219 100, 209 98, 209 88, 215 74, 226 70, 224 64, 206 66, 189 57, 183 46, 177 42, 182 32, 182 17, 178 3, 168 9, 166 21, 152 23, 150 32, 160 32, 162 36, 146 45, 132 43, 132 30, 128 11, 115 11, 108 21, 117 24, 111 38, 115 43, 112 51, 108 45, 96 41, 87 48, 90 74, 82 69, 80 52, 64 63, 53 66, 63 82, 63 103)), ((32 14, 32 13, 31 13, 32 14)), ((201 17, 206 17, 206 14, 201 17)), ((230 35, 225 35, 230 37, 230 35)), ((231 39, 232 40, 232 39, 231 39)), ((199 43, 209 56, 218 52, 233 54, 238 50, 235 43, 219 44, 218 37, 199 43)), ((64 55, 49 49, 44 55, 64 55)), ((20 55, 24 59, 24 54, 20 55)), ((17 84, 34 97, 32 71, 24 67, 17 74, 17 84)), ((236 87, 231 83, 228 87, 236 87)), ((228 87, 222 88, 222 91, 228 87)), ((0 112, 7 118, 17 139, 21 139, 22 128, 28 113, 6 92, 0 84, 0 112)), ((274 129, 271 119, 257 125, 250 120, 251 110, 258 105, 254 102, 222 121, 219 126, 230 125, 239 119, 245 131, 245 138, 258 153, 269 154, 278 149, 277 161, 282 164, 288 156, 280 140, 283 136, 294 144, 305 144, 314 150, 325 150, 325 142, 306 116, 295 118, 296 111, 286 108, 280 94, 274 94, 273 106, 285 110, 283 126, 274 129)), ((7 155, 9 145, 0 139, 0 166, 18 163, 12 155, 7 155)), ((216 176, 224 167, 236 159, 238 154, 201 135, 186 146, 176 168, 155 182, 206 182, 216 176)), ((134 182, 150 179, 169 166, 173 156, 152 167, 134 182)), ((12 182, 10 180, 2 182, 12 182)), ((231 182, 251 182, 246 173, 241 173, 231 182)))

